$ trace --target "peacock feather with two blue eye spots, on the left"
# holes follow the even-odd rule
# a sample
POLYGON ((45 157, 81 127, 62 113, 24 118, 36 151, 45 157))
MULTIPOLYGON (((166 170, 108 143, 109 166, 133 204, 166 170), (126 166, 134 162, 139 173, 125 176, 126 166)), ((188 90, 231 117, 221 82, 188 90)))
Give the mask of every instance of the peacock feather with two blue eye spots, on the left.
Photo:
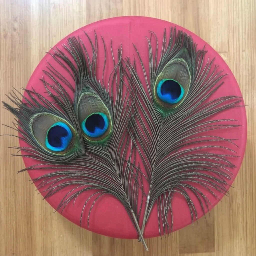
POLYGON ((114 196, 125 207, 147 250, 138 225, 142 173, 135 166, 136 147, 129 137, 133 100, 123 82, 122 47, 118 49, 115 63, 111 42, 113 71, 105 86, 105 42, 102 38, 105 60, 100 81, 96 77, 97 35, 95 33, 94 43, 86 33, 85 37, 86 42, 80 37, 68 38, 63 49, 56 48, 49 53, 72 78, 74 89, 67 77, 48 63, 45 78, 41 79, 46 97, 35 90, 25 90, 26 95, 19 100, 18 92, 13 91, 8 98, 16 106, 3 103, 17 118, 14 129, 30 146, 19 148, 24 152, 23 156, 44 161, 20 172, 51 170, 33 180, 39 189, 44 189, 45 198, 70 187, 57 210, 63 211, 79 195, 91 190, 91 196, 82 208, 80 225, 88 204, 91 205, 87 216, 89 226, 95 202, 105 194, 114 196), (73 92, 74 99, 65 88, 73 92))

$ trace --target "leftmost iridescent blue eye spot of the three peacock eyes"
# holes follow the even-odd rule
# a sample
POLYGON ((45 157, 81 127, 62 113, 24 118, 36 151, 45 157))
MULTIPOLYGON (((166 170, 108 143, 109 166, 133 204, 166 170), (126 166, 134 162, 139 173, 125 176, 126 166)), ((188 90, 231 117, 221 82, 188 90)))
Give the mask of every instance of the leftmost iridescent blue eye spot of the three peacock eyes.
POLYGON ((63 122, 53 124, 47 131, 45 144, 52 151, 63 151, 72 139, 72 132, 63 122))

